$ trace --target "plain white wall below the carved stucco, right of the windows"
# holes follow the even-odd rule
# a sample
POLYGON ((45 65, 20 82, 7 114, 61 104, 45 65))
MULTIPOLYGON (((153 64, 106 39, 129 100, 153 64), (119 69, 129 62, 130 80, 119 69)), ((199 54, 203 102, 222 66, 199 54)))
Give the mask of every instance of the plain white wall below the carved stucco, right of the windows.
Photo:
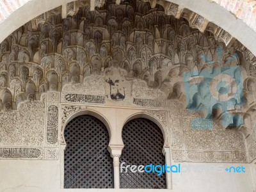
POLYGON ((183 166, 184 172, 180 174, 173 174, 173 191, 253 191, 249 164, 182 163, 181 166, 183 166), (228 173, 224 169, 230 166, 244 166, 246 172, 228 173), (188 168, 188 170, 186 170, 186 168, 188 168), (200 170, 200 168, 202 168, 202 170, 200 170))

